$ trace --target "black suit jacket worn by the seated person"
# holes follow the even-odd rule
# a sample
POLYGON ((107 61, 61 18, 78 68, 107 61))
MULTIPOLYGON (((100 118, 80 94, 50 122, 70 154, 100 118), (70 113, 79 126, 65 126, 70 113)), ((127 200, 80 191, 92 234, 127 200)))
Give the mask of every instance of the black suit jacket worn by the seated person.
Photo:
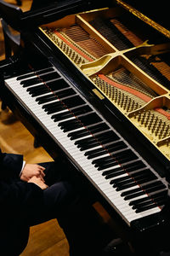
POLYGON ((26 215, 42 202, 42 189, 20 180, 23 156, 0 150, 0 248, 3 256, 17 255, 26 247, 26 215))

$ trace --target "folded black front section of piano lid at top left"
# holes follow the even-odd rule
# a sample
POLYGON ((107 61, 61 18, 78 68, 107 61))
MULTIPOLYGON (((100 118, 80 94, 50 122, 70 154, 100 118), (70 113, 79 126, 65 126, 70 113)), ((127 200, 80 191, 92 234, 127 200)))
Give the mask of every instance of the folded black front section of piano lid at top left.
POLYGON ((99 9, 108 7, 110 0, 101 2, 98 0, 59 0, 48 4, 40 9, 31 9, 23 12, 19 7, 0 0, 0 14, 3 20, 15 30, 21 31, 23 28, 32 29, 44 23, 59 20, 65 15, 77 14, 79 12, 88 11, 90 9, 99 9))

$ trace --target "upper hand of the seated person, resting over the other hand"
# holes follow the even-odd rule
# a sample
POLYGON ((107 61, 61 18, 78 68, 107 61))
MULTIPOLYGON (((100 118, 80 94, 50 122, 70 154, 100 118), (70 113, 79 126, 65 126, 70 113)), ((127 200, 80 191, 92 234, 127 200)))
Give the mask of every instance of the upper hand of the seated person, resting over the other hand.
POLYGON ((37 164, 26 164, 24 169, 22 170, 22 173, 20 175, 20 179, 23 181, 28 181, 31 177, 36 176, 40 177, 42 179, 42 182, 44 182, 43 177, 45 176, 44 171, 45 168, 42 166, 39 166, 37 164))

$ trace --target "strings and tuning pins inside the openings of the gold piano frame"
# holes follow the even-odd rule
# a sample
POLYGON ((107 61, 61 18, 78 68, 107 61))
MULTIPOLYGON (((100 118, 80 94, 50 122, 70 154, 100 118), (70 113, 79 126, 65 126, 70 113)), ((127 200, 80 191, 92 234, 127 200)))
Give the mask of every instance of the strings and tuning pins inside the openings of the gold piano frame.
MULTIPOLYGON (((118 51, 139 46, 142 43, 142 39, 127 29, 118 19, 108 20, 97 17, 89 23, 101 35, 105 36, 118 51)), ((46 27, 45 32, 57 42, 59 48, 65 52, 65 55, 71 58, 71 61, 77 67, 81 67, 83 63, 94 61, 110 53, 109 49, 105 48, 93 35, 77 24, 66 28, 48 29, 46 27)), ((158 83, 167 84, 167 78, 164 75, 169 73, 170 67, 161 61, 158 56, 155 59, 150 58, 150 55, 135 56, 135 58, 130 56, 129 59, 137 67, 149 74, 151 78, 156 79, 158 83), (154 60, 157 61, 154 62, 154 60)), ((147 105, 146 103, 152 99, 160 96, 159 92, 157 93, 156 90, 150 88, 135 73, 123 67, 123 64, 119 66, 116 69, 112 69, 109 73, 97 73, 89 78, 122 113, 126 115, 127 113, 133 113, 140 108, 144 108, 147 105)), ((152 109, 147 109, 146 107, 146 109, 141 109, 140 112, 128 115, 128 117, 146 137, 150 137, 152 143, 161 145, 160 140, 164 142, 166 147, 163 150, 167 152, 166 148, 170 141, 168 112, 168 106, 162 106, 162 108, 157 106, 157 108, 154 107, 152 109)))

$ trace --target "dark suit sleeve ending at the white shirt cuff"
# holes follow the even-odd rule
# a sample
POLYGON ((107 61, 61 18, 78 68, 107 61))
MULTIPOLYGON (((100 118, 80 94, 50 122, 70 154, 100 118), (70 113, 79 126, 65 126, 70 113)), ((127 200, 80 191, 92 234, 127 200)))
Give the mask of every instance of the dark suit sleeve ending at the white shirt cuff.
POLYGON ((19 177, 23 165, 23 155, 2 152, 0 154, 0 177, 4 179, 19 177))

